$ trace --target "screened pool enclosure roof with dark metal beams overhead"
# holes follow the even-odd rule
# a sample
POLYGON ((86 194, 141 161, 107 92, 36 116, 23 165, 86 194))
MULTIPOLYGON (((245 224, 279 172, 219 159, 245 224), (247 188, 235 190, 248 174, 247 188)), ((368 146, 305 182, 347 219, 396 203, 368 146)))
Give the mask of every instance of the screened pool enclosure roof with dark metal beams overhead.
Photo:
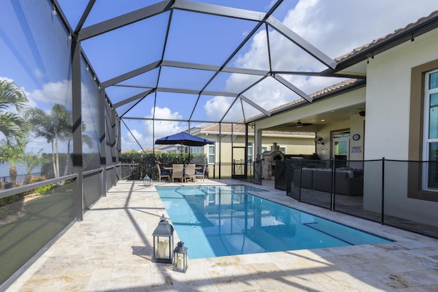
POLYGON ((287 2, 54 0, 53 9, 121 120, 246 122, 311 102, 302 80, 340 80, 333 59, 276 18, 287 2))

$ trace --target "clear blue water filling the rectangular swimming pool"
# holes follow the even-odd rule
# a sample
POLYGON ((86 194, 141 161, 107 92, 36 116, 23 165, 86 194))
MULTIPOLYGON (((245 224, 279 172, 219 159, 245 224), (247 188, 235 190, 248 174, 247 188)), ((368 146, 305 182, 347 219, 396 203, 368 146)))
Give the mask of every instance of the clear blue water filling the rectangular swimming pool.
POLYGON ((157 187, 189 258, 392 241, 285 207, 246 185, 157 187))

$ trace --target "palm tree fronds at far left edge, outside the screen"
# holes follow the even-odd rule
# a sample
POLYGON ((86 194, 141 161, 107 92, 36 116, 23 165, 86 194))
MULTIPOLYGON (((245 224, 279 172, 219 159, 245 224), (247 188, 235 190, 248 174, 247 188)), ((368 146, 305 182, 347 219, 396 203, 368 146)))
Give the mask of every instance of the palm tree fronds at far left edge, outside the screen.
POLYGON ((5 135, 9 146, 23 148, 26 143, 28 124, 19 116, 25 111, 26 104, 26 95, 18 85, 12 81, 0 80, 0 132, 5 135))

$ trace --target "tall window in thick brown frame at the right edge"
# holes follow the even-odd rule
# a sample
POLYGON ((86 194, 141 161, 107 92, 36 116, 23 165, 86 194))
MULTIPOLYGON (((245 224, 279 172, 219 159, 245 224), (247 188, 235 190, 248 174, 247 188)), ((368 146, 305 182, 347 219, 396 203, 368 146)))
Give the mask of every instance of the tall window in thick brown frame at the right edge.
POLYGON ((428 72, 424 88, 423 189, 438 190, 438 70, 428 72))

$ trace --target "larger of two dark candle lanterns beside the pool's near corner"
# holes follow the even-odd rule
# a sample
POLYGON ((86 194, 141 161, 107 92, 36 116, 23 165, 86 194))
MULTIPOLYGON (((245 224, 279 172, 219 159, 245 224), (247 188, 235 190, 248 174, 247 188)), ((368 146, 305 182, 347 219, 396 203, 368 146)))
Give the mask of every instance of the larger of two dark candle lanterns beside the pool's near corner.
POLYGON ((173 226, 167 222, 164 214, 159 218, 159 224, 153 232, 154 263, 172 263, 173 226))

